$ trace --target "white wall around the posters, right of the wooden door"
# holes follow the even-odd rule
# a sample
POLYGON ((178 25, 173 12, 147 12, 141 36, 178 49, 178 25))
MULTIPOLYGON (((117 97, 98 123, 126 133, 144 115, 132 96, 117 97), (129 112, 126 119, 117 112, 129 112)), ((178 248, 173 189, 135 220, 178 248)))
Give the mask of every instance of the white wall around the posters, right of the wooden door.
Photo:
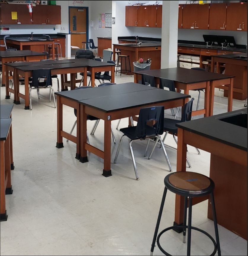
POLYGON ((95 45, 97 45, 97 37, 112 36, 112 28, 98 28, 98 14, 112 13, 112 1, 92 1, 89 9, 89 38, 93 39, 95 45), (93 20, 93 27, 90 27, 90 20, 93 20))

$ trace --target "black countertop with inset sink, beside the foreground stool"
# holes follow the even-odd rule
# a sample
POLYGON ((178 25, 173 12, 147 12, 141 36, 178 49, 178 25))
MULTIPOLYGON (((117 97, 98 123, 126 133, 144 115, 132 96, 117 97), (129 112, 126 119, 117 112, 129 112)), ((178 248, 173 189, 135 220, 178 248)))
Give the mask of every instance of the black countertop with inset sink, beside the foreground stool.
POLYGON ((220 120, 225 117, 242 115, 243 113, 247 115, 247 108, 178 123, 176 126, 183 130, 247 151, 247 128, 220 120))

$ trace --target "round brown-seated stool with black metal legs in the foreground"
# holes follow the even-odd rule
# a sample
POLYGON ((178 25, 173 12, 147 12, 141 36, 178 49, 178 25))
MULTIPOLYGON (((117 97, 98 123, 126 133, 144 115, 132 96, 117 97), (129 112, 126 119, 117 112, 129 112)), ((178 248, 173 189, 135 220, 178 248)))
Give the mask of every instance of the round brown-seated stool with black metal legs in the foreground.
POLYGON ((218 255, 220 255, 220 241, 219 241, 219 233, 218 233, 216 211, 215 211, 215 201, 214 201, 214 194, 213 194, 215 184, 212 181, 212 179, 196 172, 182 171, 182 172, 174 172, 174 173, 168 174, 164 178, 164 185, 165 185, 164 193, 163 193, 161 206, 159 210, 159 216, 157 219, 157 224, 156 224, 156 228, 153 236, 150 255, 153 255, 156 239, 157 239, 157 245, 161 250, 161 252, 163 252, 165 255, 170 255, 161 247, 159 239, 163 233, 171 229, 183 229, 183 243, 185 243, 186 229, 188 229, 187 255, 190 255, 190 249, 191 249, 191 229, 197 230, 203 233, 204 235, 208 236, 214 244, 214 251, 212 252, 211 255, 215 255, 216 251, 218 252, 218 255), (177 195, 184 196, 183 225, 177 225, 177 226, 166 228, 162 230, 157 236, 167 190, 177 195), (214 220, 214 226, 215 226, 216 242, 214 238, 210 236, 209 233, 207 233, 206 231, 191 226, 192 198, 205 196, 205 195, 210 195, 212 212, 213 212, 213 220, 214 220), (187 206, 188 206, 188 225, 186 225, 187 206))

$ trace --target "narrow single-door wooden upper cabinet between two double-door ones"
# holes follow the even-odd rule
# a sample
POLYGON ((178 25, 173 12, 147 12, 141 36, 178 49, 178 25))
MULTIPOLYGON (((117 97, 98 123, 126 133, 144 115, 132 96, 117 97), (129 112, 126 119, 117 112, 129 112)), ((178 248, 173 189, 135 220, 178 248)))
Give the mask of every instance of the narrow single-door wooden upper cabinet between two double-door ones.
POLYGON ((209 9, 209 28, 215 30, 225 30, 227 5, 210 4, 209 9))

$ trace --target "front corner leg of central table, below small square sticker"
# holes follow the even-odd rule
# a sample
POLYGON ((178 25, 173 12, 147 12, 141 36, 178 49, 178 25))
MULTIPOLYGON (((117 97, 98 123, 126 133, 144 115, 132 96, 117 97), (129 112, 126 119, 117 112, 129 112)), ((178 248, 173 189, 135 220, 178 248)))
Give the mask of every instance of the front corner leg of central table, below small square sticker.
POLYGON ((111 174, 111 120, 104 120, 104 169, 103 176, 109 177, 111 174))

